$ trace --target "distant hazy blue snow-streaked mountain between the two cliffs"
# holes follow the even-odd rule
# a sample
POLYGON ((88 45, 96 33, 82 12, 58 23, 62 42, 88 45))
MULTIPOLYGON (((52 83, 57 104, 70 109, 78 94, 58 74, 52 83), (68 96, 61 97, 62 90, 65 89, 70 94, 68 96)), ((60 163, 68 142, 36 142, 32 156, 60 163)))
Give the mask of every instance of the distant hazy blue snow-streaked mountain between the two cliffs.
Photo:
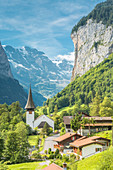
MULTIPOLYGON (((28 90, 49 98, 61 91, 71 78, 73 65, 67 60, 51 61, 44 52, 30 47, 20 49, 3 46, 10 62, 13 76, 28 90)), ((36 104, 38 104, 35 101, 36 104)))

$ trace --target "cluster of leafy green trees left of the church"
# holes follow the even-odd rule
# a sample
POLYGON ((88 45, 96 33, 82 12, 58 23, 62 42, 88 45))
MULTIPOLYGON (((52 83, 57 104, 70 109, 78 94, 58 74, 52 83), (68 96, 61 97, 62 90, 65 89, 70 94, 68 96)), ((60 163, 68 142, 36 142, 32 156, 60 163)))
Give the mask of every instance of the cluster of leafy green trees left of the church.
POLYGON ((28 160, 31 128, 25 124, 23 113, 19 102, 0 104, 0 160, 8 163, 28 160))

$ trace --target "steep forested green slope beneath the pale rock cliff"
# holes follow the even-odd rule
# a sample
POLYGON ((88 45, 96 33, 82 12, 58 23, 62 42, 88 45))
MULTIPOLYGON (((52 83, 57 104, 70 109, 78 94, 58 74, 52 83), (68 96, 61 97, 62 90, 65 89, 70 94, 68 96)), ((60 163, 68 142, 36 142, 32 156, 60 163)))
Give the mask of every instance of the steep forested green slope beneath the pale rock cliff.
MULTIPOLYGON (((77 103, 81 99, 81 104, 89 104, 92 102, 96 93, 102 99, 107 96, 113 101, 113 54, 81 77, 76 77, 59 94, 51 98, 49 103, 57 104, 59 107, 58 101, 62 100, 62 97, 65 96, 70 99, 74 95, 74 103, 77 103)), ((59 108, 63 107, 60 106, 59 108)))

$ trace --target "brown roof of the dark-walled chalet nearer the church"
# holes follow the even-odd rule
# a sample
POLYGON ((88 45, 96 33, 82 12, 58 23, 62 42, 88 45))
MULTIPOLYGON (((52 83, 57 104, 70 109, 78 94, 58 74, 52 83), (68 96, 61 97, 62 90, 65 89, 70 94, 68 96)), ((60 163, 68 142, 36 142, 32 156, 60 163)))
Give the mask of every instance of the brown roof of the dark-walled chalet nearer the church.
MULTIPOLYGON (((58 138, 56 138, 56 139, 54 139, 54 141, 56 141, 56 142, 61 142, 61 141, 64 141, 64 140, 66 140, 66 139, 68 139, 68 138, 70 138, 70 137, 72 137, 72 136, 75 136, 75 135, 77 135, 77 136, 81 136, 81 135, 79 135, 79 134, 77 134, 77 133, 66 133, 66 134, 64 134, 64 135, 62 135, 62 136, 59 136, 58 138)), ((82 137, 82 136, 81 136, 82 137)))

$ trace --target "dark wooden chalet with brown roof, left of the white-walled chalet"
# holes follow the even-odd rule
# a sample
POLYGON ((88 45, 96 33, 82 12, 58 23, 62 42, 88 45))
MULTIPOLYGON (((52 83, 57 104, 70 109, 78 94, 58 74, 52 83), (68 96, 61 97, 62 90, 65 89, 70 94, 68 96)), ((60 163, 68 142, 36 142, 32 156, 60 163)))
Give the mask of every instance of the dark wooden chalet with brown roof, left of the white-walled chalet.
POLYGON ((58 138, 54 139, 55 142, 57 142, 56 145, 54 145, 55 149, 59 149, 61 152, 68 152, 72 150, 72 148, 69 147, 70 142, 73 142, 82 136, 77 133, 66 133, 62 136, 59 136, 58 138))

